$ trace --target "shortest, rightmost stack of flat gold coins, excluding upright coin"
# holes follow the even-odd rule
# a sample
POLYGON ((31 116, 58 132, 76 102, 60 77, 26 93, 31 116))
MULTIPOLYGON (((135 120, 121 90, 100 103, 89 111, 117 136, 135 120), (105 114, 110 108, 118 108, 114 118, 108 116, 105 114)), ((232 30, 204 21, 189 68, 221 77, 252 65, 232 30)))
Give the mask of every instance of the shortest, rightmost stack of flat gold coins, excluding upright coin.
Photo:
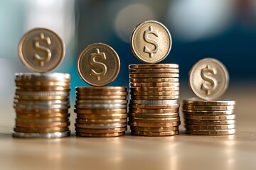
POLYGON ((235 133, 235 101, 183 101, 186 133, 191 135, 231 135, 235 133))

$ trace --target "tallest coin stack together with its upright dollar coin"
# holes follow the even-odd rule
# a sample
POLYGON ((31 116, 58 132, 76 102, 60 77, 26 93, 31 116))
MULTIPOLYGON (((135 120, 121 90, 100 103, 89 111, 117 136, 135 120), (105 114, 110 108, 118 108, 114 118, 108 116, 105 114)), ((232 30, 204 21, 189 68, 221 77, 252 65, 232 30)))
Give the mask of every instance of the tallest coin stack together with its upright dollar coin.
POLYGON ((132 135, 178 135, 178 64, 156 64, 167 57, 171 44, 169 30, 157 21, 140 23, 132 33, 132 52, 147 63, 129 65, 132 135))

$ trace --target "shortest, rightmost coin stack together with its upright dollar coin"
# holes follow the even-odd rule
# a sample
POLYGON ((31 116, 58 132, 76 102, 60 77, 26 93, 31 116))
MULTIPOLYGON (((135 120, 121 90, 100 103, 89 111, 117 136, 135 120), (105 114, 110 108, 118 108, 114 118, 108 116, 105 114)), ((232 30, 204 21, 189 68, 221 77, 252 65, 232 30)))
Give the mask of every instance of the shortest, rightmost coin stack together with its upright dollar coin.
POLYGON ((228 88, 228 71, 213 58, 193 65, 189 86, 199 98, 183 100, 186 133, 191 135, 232 135, 235 133, 235 101, 218 99, 228 88))

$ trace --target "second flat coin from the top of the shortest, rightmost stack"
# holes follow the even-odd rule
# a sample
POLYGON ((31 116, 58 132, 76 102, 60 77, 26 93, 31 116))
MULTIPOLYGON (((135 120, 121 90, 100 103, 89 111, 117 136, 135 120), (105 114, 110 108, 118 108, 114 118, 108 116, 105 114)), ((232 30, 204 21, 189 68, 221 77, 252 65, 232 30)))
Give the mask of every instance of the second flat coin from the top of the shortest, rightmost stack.
POLYGON ((184 110, 193 110, 193 111, 227 111, 234 110, 234 106, 191 106, 183 105, 184 110))

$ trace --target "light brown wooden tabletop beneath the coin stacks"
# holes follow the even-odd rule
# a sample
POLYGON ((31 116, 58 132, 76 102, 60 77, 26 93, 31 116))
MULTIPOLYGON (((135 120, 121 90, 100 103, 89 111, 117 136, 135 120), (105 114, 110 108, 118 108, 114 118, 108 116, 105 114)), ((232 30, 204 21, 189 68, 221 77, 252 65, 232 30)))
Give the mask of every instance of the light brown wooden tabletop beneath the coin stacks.
POLYGON ((182 123, 181 135, 172 137, 17 139, 5 126, 0 169, 256 169, 255 84, 247 87, 225 94, 237 102, 235 135, 184 135, 182 123))

